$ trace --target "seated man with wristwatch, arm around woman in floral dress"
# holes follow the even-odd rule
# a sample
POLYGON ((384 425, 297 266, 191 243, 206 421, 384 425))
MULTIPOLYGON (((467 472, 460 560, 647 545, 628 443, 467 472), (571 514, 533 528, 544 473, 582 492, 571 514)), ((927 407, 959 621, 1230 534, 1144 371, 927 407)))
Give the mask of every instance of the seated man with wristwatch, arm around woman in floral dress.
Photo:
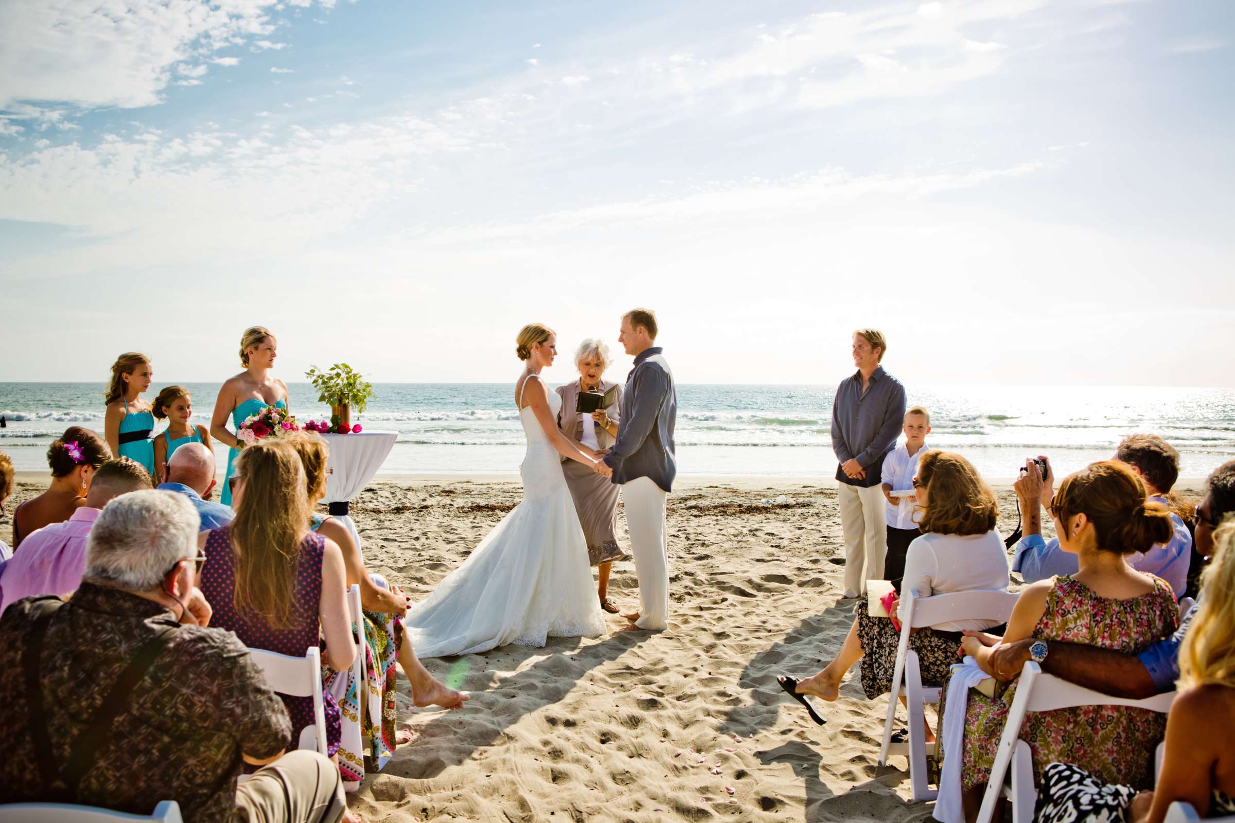
MULTIPOLYGON (((1205 481, 1205 496, 1197 506, 1195 550, 1203 556, 1213 553, 1214 529, 1224 519, 1235 516, 1235 460, 1214 469, 1205 481)), ((1197 607, 1193 606, 1179 621, 1179 628, 1168 638, 1151 644, 1136 656, 1113 649, 1061 640, 1046 640, 1046 659, 1040 661, 1042 671, 1062 677, 1078 686, 1100 691, 1115 697, 1144 700, 1173 691, 1179 679, 1179 645, 1188 632, 1197 607)), ((972 655, 988 675, 998 680, 1011 680, 1031 660, 1030 647, 1036 638, 1024 638, 1013 643, 1000 643, 1002 638, 981 632, 966 632, 965 653, 972 655)))

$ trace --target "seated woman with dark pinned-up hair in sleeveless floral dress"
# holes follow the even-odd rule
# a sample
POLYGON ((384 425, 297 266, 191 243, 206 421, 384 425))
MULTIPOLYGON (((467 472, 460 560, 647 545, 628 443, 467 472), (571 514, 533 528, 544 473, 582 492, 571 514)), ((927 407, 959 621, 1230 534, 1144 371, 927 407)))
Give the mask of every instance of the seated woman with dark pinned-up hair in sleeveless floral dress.
MULTIPOLYGON (((1137 653, 1176 629, 1179 611, 1171 587, 1124 560, 1166 543, 1172 531, 1166 506, 1145 500, 1145 485, 1126 464, 1094 463, 1068 476, 1050 511, 1060 544, 1079 555, 1081 570, 1021 592, 1004 634, 1009 643, 1032 637, 1137 653)), ((982 802, 1011 702, 1013 693, 998 700, 968 693, 961 767, 967 816, 982 802)), ((1163 727, 1156 712, 1081 706, 1030 714, 1021 739, 1032 751, 1039 784, 1046 764, 1071 759, 1108 782, 1147 787, 1163 727)))

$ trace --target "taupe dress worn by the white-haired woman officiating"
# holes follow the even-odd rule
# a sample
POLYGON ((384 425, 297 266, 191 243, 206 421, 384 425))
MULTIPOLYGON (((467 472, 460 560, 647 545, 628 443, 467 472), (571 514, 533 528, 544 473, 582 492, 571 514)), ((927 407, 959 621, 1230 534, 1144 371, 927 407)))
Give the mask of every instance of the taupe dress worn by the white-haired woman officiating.
MULTIPOLYGON (((618 384, 610 380, 601 380, 597 391, 609 391, 615 385, 618 384)), ((557 394, 562 397, 557 427, 568 438, 582 444, 583 421, 579 420, 579 412, 574 411, 578 405, 579 381, 572 380, 564 386, 558 386, 557 394)), ((616 423, 620 408, 621 386, 619 385, 616 401, 605 408, 609 420, 616 423)), ((588 420, 590 422, 590 415, 588 415, 588 420)), ((614 438, 609 432, 599 426, 595 426, 595 432, 597 443, 601 449, 608 449, 614 444, 614 438)), ((574 498, 574 511, 579 515, 579 523, 583 524, 583 534, 588 539, 588 561, 592 565, 599 565, 626 556, 618 547, 618 484, 569 458, 562 458, 562 473, 566 475, 566 485, 571 489, 571 497, 574 498)))

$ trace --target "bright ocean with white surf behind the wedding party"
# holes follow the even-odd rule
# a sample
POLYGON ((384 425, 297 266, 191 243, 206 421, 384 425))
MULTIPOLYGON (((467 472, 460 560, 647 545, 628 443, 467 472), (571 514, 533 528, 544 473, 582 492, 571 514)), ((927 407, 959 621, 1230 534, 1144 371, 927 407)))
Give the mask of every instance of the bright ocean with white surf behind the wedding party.
MULTIPOLYGON (((183 384, 194 422, 209 423, 217 383, 183 384)), ((552 384, 557 385, 557 384, 552 384)), ((152 386, 153 397, 162 384, 152 386)), ((329 415, 309 384, 289 384, 300 420, 329 415)), ((103 385, 0 383, 0 452, 19 470, 46 471, 47 445, 67 426, 103 432, 103 385)), ((829 436, 835 386, 679 385, 677 444, 684 475, 832 476, 829 436)), ((992 480, 1026 457, 1050 455, 1057 473, 1112 455, 1130 432, 1152 432, 1181 454, 1181 475, 1204 478, 1235 458, 1235 390, 1144 386, 930 386, 909 389, 931 412, 932 448, 960 452, 992 480)), ((383 474, 516 475, 522 431, 509 384, 374 384, 353 415, 399 440, 383 474)), ((227 449, 215 444, 220 466, 227 449)), ((220 469, 221 470, 221 469, 220 469)))

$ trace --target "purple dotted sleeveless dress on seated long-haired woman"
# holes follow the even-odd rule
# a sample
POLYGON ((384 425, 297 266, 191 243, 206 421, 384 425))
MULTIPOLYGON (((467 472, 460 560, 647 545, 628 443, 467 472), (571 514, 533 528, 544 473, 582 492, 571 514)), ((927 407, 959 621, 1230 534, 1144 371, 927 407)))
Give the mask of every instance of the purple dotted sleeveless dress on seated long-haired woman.
MULTIPOLYGON (((321 622, 317 617, 321 601, 321 558, 326 540, 320 534, 309 533, 300 543, 300 556, 296 563, 295 582, 291 590, 296 624, 289 629, 270 628, 257 616, 241 616, 236 611, 236 568, 231 544, 231 528, 211 529, 206 538, 206 561, 201 568, 198 586, 205 595, 214 613, 210 627, 228 629, 236 633, 240 642, 251 649, 266 649, 291 656, 304 656, 309 647, 321 648, 321 622)), ((300 732, 314 724, 312 697, 283 698, 291 718, 291 740, 294 746, 300 740, 300 732)), ((327 755, 338 751, 342 727, 338 716, 338 702, 326 692, 326 744, 327 755)))

